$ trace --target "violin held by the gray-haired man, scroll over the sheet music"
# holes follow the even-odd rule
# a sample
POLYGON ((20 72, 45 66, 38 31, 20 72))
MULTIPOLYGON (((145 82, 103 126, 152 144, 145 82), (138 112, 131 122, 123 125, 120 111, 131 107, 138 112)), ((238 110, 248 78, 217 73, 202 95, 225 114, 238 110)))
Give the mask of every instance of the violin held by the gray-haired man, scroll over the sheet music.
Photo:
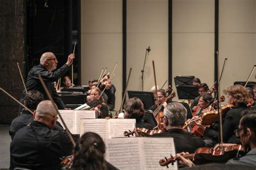
POLYGON ((133 131, 124 131, 124 136, 125 137, 130 137, 130 135, 133 136, 133 134, 136 134, 136 137, 151 137, 153 134, 158 134, 158 133, 164 133, 164 130, 148 130, 147 128, 144 127, 136 127, 134 128, 133 131))

